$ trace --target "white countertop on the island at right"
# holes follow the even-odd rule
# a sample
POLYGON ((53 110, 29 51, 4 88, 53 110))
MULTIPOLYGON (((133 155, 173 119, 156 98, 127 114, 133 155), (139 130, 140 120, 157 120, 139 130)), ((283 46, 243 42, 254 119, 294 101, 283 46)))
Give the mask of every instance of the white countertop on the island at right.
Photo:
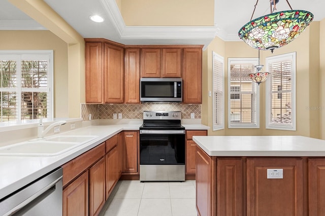
POLYGON ((325 140, 305 136, 193 136, 210 156, 325 157, 325 140))

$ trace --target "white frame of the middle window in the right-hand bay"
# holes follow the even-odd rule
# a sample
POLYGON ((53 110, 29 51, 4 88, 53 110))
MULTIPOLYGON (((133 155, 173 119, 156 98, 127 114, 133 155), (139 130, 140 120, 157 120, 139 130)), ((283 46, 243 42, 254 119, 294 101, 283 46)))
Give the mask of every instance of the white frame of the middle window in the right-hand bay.
MULTIPOLYGON (((231 123, 231 100, 238 99, 230 99, 231 98, 231 65, 232 64, 251 64, 257 65, 258 58, 228 58, 228 128, 259 128, 259 87, 257 83, 251 81, 253 89, 255 89, 255 100, 256 107, 253 110, 255 112, 255 123, 231 123)), ((255 70, 252 71, 255 73, 255 70)), ((242 82, 250 82, 250 81, 242 81, 242 82)), ((253 90, 252 89, 252 90, 253 90)), ((253 109, 253 107, 252 107, 253 109)))

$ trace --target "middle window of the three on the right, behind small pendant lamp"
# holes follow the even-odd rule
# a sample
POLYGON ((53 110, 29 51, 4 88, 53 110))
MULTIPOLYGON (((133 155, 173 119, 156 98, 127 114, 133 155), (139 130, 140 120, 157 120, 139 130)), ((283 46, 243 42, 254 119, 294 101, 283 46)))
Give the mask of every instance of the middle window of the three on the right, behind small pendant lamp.
POLYGON ((248 76, 256 58, 228 59, 228 127, 259 128, 259 89, 248 76))

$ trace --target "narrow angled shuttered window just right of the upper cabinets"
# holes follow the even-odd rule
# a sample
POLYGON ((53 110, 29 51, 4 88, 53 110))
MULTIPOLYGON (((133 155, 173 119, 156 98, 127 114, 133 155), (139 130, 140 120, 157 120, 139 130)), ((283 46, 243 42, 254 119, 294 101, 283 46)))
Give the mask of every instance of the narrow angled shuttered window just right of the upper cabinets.
POLYGON ((213 130, 224 129, 224 77, 223 57, 212 52, 213 61, 213 130))

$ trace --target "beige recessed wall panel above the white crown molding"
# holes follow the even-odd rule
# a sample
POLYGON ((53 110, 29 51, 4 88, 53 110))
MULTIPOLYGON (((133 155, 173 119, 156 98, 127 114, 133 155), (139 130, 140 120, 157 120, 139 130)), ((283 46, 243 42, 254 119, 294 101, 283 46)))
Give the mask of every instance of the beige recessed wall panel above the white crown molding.
POLYGON ((123 0, 119 8, 125 25, 214 25, 213 0, 123 0))

